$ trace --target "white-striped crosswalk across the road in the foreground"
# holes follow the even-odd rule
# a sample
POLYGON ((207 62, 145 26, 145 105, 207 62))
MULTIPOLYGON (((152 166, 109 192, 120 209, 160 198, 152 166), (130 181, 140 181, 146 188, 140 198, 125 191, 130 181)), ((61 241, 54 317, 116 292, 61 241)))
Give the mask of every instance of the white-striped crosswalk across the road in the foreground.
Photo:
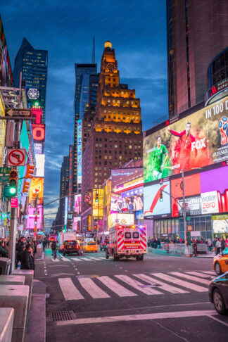
POLYGON ((65 300, 108 299, 112 297, 162 296, 208 292, 211 271, 153 272, 148 274, 116 274, 97 277, 58 278, 59 289, 65 300))

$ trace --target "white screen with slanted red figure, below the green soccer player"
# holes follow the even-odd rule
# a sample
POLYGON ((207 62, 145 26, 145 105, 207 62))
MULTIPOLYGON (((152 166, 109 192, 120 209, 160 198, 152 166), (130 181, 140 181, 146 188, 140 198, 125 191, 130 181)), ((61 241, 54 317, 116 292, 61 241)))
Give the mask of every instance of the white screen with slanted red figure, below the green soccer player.
POLYGON ((144 217, 157 215, 169 216, 170 211, 170 182, 144 186, 144 217), (160 191, 163 191, 163 201, 160 201, 160 191))

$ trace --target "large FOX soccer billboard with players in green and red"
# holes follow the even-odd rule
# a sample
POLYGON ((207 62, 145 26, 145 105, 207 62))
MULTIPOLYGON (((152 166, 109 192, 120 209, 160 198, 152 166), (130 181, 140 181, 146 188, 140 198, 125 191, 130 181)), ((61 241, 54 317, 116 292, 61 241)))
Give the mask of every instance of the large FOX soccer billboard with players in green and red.
POLYGON ((144 139, 144 182, 228 160, 228 99, 217 101, 144 139))

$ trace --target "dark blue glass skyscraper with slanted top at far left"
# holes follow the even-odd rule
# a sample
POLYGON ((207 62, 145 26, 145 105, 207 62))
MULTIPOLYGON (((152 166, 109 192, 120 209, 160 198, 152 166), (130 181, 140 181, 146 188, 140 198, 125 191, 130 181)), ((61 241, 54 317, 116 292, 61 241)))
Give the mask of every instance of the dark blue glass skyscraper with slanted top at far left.
POLYGON ((42 122, 45 122, 46 80, 48 51, 37 50, 23 38, 15 58, 13 80, 15 87, 20 86, 20 72, 26 81, 28 107, 42 108, 42 122))

